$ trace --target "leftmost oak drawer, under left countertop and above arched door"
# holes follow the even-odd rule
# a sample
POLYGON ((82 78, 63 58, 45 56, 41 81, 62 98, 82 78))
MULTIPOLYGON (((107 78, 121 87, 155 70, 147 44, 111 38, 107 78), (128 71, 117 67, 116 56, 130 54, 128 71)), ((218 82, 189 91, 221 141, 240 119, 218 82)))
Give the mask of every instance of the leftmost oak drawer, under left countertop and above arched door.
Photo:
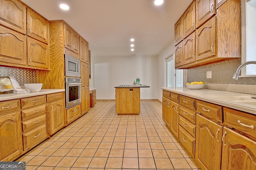
POLYGON ((10 100, 0 102, 0 114, 20 109, 20 100, 10 100))

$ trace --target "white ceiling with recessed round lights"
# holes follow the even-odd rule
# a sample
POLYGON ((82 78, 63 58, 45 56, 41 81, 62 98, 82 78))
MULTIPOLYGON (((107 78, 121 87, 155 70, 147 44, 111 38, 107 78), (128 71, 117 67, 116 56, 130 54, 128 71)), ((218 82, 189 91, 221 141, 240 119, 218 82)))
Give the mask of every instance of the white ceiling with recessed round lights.
POLYGON ((192 0, 22 0, 48 20, 64 20, 89 42, 93 56, 158 55, 192 0), (68 4, 68 11, 61 10, 68 4), (134 51, 130 49, 134 38, 134 51))

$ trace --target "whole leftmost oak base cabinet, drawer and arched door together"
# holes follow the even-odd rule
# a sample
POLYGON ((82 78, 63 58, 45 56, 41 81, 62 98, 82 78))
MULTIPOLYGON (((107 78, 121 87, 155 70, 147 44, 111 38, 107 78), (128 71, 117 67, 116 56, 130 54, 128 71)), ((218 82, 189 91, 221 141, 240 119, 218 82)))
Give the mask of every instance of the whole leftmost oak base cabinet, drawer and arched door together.
POLYGON ((13 161, 23 152, 20 100, 0 103, 0 161, 13 161))

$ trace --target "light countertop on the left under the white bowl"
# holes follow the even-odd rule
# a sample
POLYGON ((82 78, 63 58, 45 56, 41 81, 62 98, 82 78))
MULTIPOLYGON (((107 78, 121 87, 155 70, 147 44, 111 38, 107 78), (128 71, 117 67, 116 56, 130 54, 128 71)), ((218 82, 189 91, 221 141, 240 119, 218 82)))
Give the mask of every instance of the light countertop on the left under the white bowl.
POLYGON ((20 98, 24 98, 24 97, 33 97, 33 96, 39 96, 39 95, 47 95, 47 94, 58 93, 58 92, 62 92, 62 91, 65 91, 65 89, 41 89, 40 92, 34 92, 34 93, 0 94, 0 101, 20 99, 20 98))

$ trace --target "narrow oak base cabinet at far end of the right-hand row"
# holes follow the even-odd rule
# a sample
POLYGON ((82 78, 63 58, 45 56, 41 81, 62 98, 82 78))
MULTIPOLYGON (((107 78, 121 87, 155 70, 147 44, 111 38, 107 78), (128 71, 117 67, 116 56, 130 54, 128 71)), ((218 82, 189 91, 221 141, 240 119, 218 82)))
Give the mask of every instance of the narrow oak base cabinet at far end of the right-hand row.
POLYGON ((166 126, 170 128, 170 116, 171 116, 171 92, 163 90, 162 97, 162 119, 166 126))

